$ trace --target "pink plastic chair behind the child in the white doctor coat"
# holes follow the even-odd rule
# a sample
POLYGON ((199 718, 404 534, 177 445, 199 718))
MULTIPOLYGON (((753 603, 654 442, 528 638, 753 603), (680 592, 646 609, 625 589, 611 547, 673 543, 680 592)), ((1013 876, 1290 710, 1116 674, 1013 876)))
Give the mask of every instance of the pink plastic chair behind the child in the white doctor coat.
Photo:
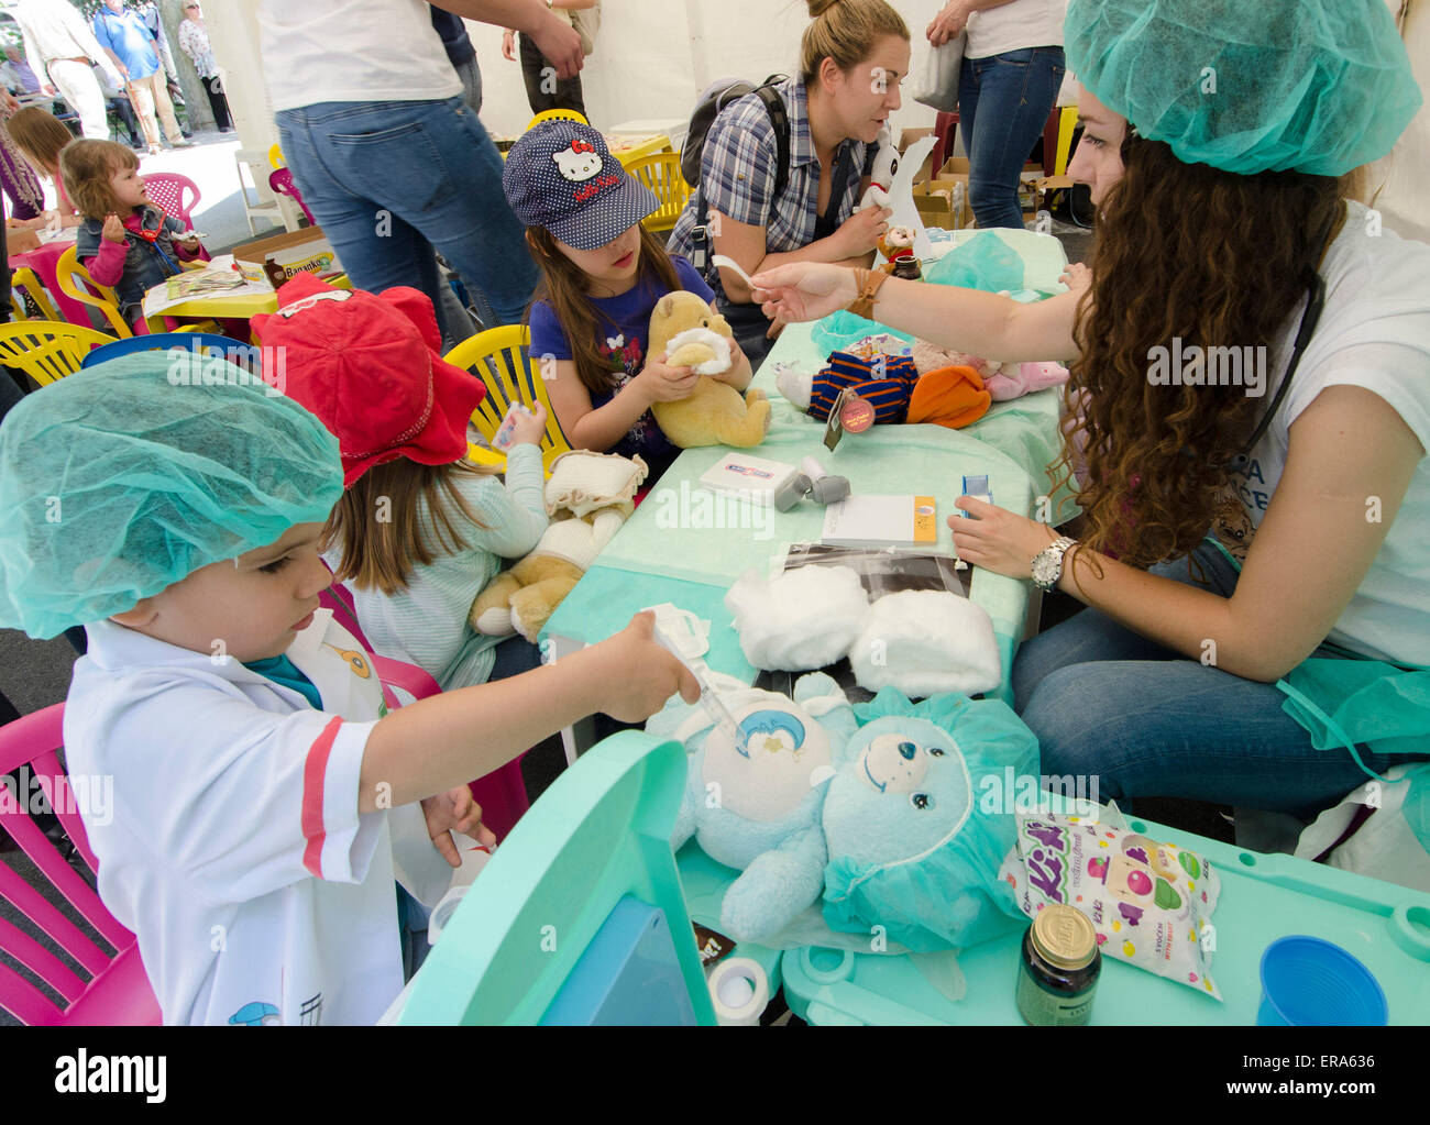
MULTIPOLYGON (((97 868, 94 853, 90 851, 84 825, 74 812, 70 783, 56 753, 64 745, 60 732, 63 716, 64 705, 56 703, 0 726, 0 773, 24 768, 39 782, 70 842, 90 872, 94 872, 97 868)), ((0 898, 14 905, 89 973, 89 979, 83 979, 19 926, 0 921, 0 952, 19 961, 64 999, 61 1008, 19 972, 0 965, 0 1008, 21 1024, 33 1025, 159 1024, 162 1019, 159 1001, 154 999, 149 978, 144 975, 134 935, 104 909, 99 895, 64 861, 27 812, 16 808, 16 802, 6 799, 0 806, 0 828, 10 833, 40 869, 40 878, 57 889, 114 949, 109 953, 96 945, 59 908, 0 859, 0 898)))

